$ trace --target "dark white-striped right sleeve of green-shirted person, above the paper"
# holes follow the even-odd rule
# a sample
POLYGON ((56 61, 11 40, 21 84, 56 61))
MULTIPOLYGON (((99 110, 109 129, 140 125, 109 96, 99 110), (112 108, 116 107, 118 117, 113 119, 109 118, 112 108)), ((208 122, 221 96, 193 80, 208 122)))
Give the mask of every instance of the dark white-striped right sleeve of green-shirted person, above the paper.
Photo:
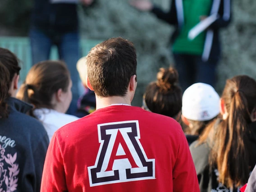
POLYGON ((227 27, 231 21, 231 0, 221 0, 218 11, 219 18, 210 25, 213 30, 227 27))

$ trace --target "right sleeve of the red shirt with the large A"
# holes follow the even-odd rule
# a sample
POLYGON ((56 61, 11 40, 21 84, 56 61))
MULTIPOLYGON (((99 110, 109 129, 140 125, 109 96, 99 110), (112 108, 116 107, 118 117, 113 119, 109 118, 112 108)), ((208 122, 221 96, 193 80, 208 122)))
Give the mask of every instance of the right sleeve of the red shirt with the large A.
POLYGON ((173 169, 174 192, 200 192, 195 165, 184 133, 180 133, 178 141, 178 154, 173 169))

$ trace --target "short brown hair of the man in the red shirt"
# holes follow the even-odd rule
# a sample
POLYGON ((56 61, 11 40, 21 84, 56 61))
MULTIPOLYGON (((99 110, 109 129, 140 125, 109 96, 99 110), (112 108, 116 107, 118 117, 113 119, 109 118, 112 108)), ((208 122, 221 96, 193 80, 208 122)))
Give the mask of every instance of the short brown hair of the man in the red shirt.
POLYGON ((135 47, 121 37, 103 41, 87 55, 88 79, 100 97, 125 96, 136 69, 135 47))

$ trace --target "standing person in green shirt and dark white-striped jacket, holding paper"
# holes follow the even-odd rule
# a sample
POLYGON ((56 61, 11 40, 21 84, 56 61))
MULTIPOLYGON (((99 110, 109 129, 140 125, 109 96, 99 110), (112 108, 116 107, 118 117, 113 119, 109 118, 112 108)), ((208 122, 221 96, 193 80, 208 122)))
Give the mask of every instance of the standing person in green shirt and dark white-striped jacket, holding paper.
POLYGON ((168 12, 149 0, 133 0, 131 5, 142 11, 151 11, 158 18, 174 25, 171 37, 172 52, 183 90, 195 82, 214 87, 215 69, 220 58, 219 29, 231 20, 231 0, 172 0, 168 12), (193 40, 188 32, 201 20, 216 15, 217 19, 193 40))

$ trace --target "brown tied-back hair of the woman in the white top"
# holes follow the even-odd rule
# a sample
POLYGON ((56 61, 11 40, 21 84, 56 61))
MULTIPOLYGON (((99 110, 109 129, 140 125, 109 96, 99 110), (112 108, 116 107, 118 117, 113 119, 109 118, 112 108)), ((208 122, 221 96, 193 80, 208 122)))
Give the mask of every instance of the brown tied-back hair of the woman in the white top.
POLYGON ((67 91, 70 81, 69 70, 62 61, 46 60, 37 63, 27 73, 17 98, 31 103, 36 108, 53 109, 52 96, 59 89, 67 91))

